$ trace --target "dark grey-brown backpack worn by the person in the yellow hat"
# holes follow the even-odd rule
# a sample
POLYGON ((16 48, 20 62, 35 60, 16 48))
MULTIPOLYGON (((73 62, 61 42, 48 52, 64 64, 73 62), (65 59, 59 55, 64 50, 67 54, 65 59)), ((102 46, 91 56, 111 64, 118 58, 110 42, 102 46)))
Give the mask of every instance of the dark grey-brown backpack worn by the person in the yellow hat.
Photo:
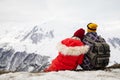
POLYGON ((85 36, 83 41, 90 44, 89 51, 85 54, 83 61, 83 69, 104 69, 109 64, 110 46, 103 37, 97 36, 97 40, 93 40, 90 36, 85 36))

